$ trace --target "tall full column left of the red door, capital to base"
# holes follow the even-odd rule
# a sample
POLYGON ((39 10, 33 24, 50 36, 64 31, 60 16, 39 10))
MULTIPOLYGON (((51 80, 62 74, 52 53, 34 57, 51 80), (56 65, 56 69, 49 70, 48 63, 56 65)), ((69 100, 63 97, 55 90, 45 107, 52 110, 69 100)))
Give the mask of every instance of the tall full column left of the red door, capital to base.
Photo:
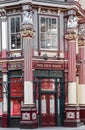
POLYGON ((33 101, 32 45, 33 21, 32 7, 23 6, 22 37, 24 45, 24 104, 21 106, 20 128, 38 127, 37 110, 33 101))

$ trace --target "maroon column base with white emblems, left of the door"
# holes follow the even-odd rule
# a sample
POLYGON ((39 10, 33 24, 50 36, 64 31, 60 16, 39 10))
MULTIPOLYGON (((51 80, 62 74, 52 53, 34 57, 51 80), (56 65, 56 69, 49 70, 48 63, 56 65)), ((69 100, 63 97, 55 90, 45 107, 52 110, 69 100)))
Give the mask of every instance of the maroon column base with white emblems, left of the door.
POLYGON ((34 104, 23 105, 21 107, 21 129, 33 129, 38 127, 37 109, 34 104))

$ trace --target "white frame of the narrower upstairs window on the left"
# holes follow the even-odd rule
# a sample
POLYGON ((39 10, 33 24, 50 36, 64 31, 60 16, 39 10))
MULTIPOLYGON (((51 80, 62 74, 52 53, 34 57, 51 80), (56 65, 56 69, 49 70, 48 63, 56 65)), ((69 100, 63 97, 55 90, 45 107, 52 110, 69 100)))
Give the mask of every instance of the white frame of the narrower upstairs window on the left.
MULTIPOLYGON (((17 17, 20 17, 20 30, 21 30, 21 15, 15 15, 15 16, 9 17, 9 50, 11 50, 11 51, 14 51, 14 50, 16 51, 16 50, 22 49, 22 37, 21 37, 21 48, 18 48, 18 49, 12 49, 11 48, 11 19, 17 18, 17 17)), ((20 32, 20 35, 21 35, 21 32, 20 32)))

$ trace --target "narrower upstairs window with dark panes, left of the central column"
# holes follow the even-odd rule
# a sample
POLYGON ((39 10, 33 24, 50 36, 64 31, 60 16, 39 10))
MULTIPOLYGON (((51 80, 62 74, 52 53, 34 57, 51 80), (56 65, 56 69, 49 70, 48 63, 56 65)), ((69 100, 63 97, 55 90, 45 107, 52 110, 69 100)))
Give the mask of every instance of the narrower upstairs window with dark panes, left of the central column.
POLYGON ((10 49, 21 49, 20 16, 10 18, 10 49))

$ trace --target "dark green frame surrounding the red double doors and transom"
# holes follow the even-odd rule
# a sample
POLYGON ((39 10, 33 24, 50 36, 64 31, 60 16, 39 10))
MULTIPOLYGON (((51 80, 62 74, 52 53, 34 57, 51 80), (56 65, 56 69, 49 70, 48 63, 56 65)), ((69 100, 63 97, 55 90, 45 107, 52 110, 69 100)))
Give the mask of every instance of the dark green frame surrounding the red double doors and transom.
MULTIPOLYGON (((38 70, 37 70, 38 71, 38 70)), ((39 70, 40 71, 40 70, 39 70)), ((41 70, 43 71, 43 70, 41 70)), ((46 70, 46 71, 50 71, 50 70, 46 70)), ((61 70, 60 70, 61 71, 61 70)), ((59 117, 58 115, 58 110, 57 110, 57 100, 55 100, 55 114, 56 114, 56 126, 63 126, 64 125, 64 118, 65 118, 65 114, 64 114, 64 109, 65 109, 65 78, 64 78, 64 71, 62 71, 62 76, 61 75, 39 75, 40 73, 36 73, 36 70, 34 71, 34 102, 36 104, 36 84, 38 83, 38 125, 41 126, 41 115, 40 115, 40 111, 41 111, 41 101, 40 101, 40 97, 41 97, 41 94, 43 94, 42 90, 41 90, 41 80, 43 78, 52 78, 52 79, 55 79, 55 86, 58 85, 58 81, 57 81, 57 78, 60 79, 60 84, 61 87, 60 90, 61 90, 61 99, 60 99, 60 106, 61 108, 63 108, 63 110, 61 109, 61 116, 59 117), (38 80, 36 80, 38 79, 38 80), (63 89, 62 89, 63 88, 63 89), (62 124, 59 124, 59 118, 62 122, 62 124)), ((58 97, 58 90, 57 90, 57 87, 55 88, 55 91, 45 91, 44 92, 45 94, 55 94, 55 97, 57 99, 58 97)))

